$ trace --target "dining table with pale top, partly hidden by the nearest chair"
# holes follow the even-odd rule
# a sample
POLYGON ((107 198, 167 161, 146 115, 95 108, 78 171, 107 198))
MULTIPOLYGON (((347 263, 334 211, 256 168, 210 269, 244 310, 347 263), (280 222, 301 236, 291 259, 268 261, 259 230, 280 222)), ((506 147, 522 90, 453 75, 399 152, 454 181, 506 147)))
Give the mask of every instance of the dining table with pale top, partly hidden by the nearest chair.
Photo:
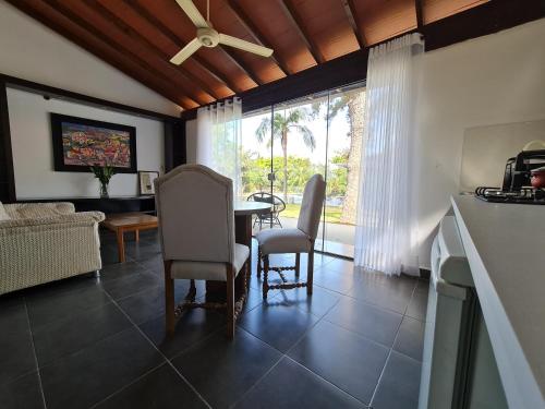
MULTIPOLYGON (((252 216, 265 215, 272 210, 271 203, 253 202, 253 201, 234 201, 234 240, 239 244, 247 245, 250 249, 249 256, 249 273, 252 273, 252 216)), ((240 275, 237 277, 237 291, 242 289, 242 278, 240 275)), ((213 296, 216 298, 223 298, 226 294, 225 281, 206 281, 206 298, 213 296)))

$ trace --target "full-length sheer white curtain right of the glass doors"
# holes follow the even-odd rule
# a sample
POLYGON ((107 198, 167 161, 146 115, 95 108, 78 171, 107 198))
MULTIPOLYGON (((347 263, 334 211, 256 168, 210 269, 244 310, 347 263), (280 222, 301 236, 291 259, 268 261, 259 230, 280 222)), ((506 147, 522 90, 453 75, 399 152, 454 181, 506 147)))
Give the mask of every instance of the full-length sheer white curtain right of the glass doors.
POLYGON ((370 50, 354 263, 385 274, 415 274, 419 267, 411 183, 414 57, 423 50, 420 34, 370 50))

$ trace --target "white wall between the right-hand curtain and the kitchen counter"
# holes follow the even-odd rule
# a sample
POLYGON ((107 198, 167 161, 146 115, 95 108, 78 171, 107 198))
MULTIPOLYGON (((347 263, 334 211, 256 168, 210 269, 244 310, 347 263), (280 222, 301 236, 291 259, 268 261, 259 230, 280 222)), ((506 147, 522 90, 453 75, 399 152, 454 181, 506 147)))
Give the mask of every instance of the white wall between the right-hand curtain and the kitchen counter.
POLYGON ((414 185, 422 266, 429 267, 434 229, 459 191, 464 130, 545 119, 544 38, 542 19, 422 56, 414 185))

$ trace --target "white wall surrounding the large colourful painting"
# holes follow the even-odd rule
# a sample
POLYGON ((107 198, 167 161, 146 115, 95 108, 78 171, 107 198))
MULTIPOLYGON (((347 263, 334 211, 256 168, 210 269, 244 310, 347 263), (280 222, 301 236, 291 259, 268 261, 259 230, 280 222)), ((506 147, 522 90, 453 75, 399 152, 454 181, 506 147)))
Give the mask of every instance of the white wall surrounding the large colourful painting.
MULTIPOLYGON (((93 173, 57 172, 49 112, 83 117, 136 128, 138 170, 164 170, 162 122, 90 108, 40 95, 8 89, 15 193, 21 199, 98 196, 93 173)), ((120 173, 110 181, 110 194, 138 194, 137 175, 120 173)))

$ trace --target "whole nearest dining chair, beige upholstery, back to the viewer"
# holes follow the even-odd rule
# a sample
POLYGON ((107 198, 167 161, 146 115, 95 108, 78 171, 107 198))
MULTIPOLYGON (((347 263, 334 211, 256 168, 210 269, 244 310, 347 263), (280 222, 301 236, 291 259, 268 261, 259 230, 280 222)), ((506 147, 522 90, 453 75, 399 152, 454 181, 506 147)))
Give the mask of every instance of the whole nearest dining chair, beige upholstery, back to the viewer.
POLYGON ((155 180, 159 238, 165 264, 167 333, 187 309, 227 309, 227 335, 246 297, 250 249, 234 241, 233 182, 202 165, 183 165, 155 180), (244 269, 234 301, 234 280, 244 269), (190 279, 190 292, 174 305, 174 279, 190 279), (194 280, 226 281, 227 302, 195 302, 194 280))

